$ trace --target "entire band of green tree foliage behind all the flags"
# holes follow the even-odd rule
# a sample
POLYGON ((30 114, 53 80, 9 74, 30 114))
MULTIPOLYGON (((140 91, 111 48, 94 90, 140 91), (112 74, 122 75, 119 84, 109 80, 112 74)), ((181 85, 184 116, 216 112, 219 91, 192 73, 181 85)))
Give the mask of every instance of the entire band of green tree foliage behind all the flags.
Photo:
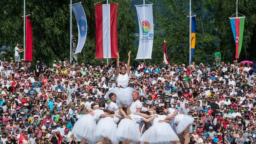
MULTIPOLYGON (((69 0, 26 0, 26 14, 31 15, 33 30, 33 59, 52 63, 69 58, 69 0)), ((95 12, 98 0, 81 0, 87 17, 88 32, 79 62, 99 63, 95 59, 95 12)), ((134 33, 138 33, 138 21, 134 5, 137 0, 113 0, 117 7, 117 30, 120 58, 127 59, 132 50, 132 61, 138 44, 134 33)), ((154 45, 150 62, 163 61, 163 40, 166 39, 168 56, 173 63, 189 63, 189 15, 188 0, 151 0, 154 14, 154 45)), ((242 51, 239 60, 255 61, 256 3, 251 0, 238 1, 239 13, 246 16, 242 51)), ((75 2, 74 2, 75 3, 75 2)), ((105 3, 105 2, 102 2, 105 3)), ((141 3, 140 3, 141 4, 141 3)), ((11 46, 5 57, 14 56, 15 42, 23 48, 23 1, 1 0, 0 45, 11 46)), ((220 51, 224 61, 235 58, 235 42, 229 17, 236 11, 233 0, 192 0, 192 13, 196 15, 196 46, 194 62, 211 64, 214 52, 220 51)), ((78 30, 72 17, 73 49, 76 49, 78 30)), ((106 61, 105 59, 101 59, 106 61)))

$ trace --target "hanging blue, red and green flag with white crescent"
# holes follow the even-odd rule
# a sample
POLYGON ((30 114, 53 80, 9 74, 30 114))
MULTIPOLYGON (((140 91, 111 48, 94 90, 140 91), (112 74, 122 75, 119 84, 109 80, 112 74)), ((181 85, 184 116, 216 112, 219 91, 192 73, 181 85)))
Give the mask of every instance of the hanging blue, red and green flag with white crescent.
POLYGON ((229 19, 236 43, 236 59, 238 59, 242 49, 245 17, 234 17, 229 19))

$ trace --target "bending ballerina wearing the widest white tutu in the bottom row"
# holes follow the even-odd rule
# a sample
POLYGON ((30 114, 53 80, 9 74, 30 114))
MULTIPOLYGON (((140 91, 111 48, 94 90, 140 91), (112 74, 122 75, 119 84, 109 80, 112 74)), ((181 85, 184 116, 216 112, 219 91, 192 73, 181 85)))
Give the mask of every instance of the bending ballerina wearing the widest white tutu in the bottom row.
POLYGON ((157 107, 155 112, 158 117, 152 120, 152 126, 143 133, 140 141, 144 142, 145 144, 162 144, 170 142, 176 143, 180 141, 170 124, 166 123, 178 113, 178 110, 176 110, 174 114, 168 116, 164 115, 164 110, 161 107, 157 107), (160 123, 159 120, 168 121, 160 123))

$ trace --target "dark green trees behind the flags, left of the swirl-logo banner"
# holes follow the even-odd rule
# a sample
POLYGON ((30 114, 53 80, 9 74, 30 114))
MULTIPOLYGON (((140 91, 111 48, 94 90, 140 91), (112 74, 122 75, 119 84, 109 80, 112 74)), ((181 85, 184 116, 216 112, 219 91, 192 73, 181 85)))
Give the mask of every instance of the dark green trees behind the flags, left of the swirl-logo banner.
MULTIPOLYGON (((95 12, 98 0, 82 0, 87 17, 87 38, 78 55, 79 62, 98 63, 95 59, 95 12)), ((117 0, 113 0, 117 2, 117 0)), ((133 34, 136 22, 130 12, 130 1, 118 1, 117 29, 119 53, 127 59, 128 50, 135 51, 133 34)), ((33 60, 52 63, 54 60, 69 58, 70 50, 70 1, 69 0, 26 0, 26 14, 30 14, 33 30, 33 60)), ((15 42, 23 48, 23 1, 2 0, 0 2, 0 44, 10 45, 12 51, 5 57, 14 56, 15 42)), ((78 30, 72 16, 73 49, 76 49, 78 30)), ((21 56, 23 57, 23 56, 21 56)), ((104 60, 105 61, 105 60, 104 60)))

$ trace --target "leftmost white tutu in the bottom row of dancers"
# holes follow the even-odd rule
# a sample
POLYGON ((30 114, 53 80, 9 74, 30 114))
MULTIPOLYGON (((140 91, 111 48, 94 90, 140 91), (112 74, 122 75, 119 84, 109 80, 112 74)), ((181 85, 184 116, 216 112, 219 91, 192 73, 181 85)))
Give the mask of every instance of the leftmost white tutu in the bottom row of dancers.
POLYGON ((86 138, 87 143, 96 142, 94 132, 96 123, 89 115, 83 115, 73 126, 72 134, 79 139, 86 138))

